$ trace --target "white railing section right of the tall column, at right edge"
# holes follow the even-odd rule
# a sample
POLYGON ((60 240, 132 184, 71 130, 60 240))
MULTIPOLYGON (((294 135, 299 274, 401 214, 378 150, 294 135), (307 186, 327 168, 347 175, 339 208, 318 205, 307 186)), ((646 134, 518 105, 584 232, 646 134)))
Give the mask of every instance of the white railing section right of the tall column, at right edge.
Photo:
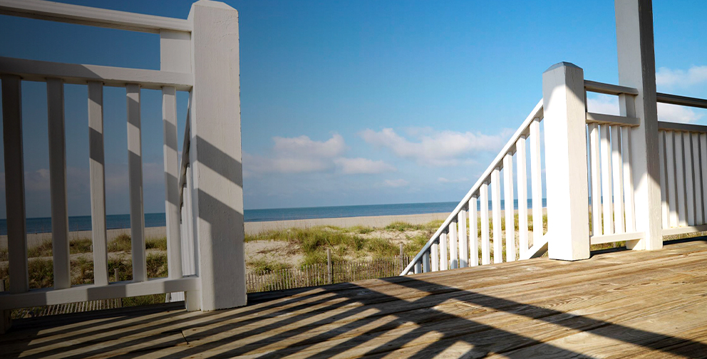
MULTIPOLYGON (((707 108, 707 100, 659 93, 661 103, 707 108)), ((707 231, 707 126, 659 122, 663 235, 707 231)))

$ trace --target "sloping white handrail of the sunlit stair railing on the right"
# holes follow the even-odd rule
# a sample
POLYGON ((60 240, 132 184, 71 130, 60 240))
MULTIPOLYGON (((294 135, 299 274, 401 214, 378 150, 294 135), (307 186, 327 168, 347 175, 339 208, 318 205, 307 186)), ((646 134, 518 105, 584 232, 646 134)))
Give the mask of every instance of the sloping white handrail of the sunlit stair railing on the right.
MULTIPOLYGON (((535 118, 542 118, 542 99, 538 101, 537 105, 535 105, 535 108, 532 109, 530 112, 530 115, 528 115, 527 118, 525 118, 525 121, 523 121, 522 125, 520 125, 520 128, 510 137, 510 140, 506 142, 506 145, 503 146, 503 149, 498 153, 496 156, 495 160, 491 162, 491 165, 484 171, 484 174, 481 175, 479 180, 474 184, 473 187, 467 192, 467 194, 464 196, 464 198, 457 204, 457 207, 452 211, 452 213, 449 214, 449 217, 445 219, 444 223, 440 226, 437 231, 435 231, 435 234, 433 234, 430 237, 430 240, 425 243, 425 246, 423 246, 422 249, 418 252, 418 254, 413 258, 412 261, 408 264, 408 266, 403 269, 402 274, 406 274, 409 271, 413 269, 413 266, 422 259, 423 254, 430 249, 430 246, 434 243, 435 239, 437 239, 440 234, 442 234, 442 231, 444 231, 445 228, 449 227, 449 224, 452 223, 453 219, 457 217, 457 214, 459 214, 459 211, 466 205, 468 204, 469 200, 471 197, 479 190, 481 187, 481 184, 488 182, 487 178, 491 175, 491 172, 500 165, 500 163, 503 160, 503 157, 509 152, 513 152, 515 150, 515 143, 520 139, 521 136, 527 135, 529 132, 528 128, 530 127, 530 123, 535 118)), ((471 209, 470 209, 471 210, 471 209)), ((475 210, 475 209, 473 209, 475 210)))

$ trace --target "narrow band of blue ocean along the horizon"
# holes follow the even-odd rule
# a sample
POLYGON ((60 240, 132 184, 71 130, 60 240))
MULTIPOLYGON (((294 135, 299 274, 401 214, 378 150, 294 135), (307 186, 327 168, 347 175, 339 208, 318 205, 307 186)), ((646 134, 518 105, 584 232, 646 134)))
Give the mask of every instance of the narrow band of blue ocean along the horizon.
MULTIPOLYGON (((514 209, 518 209, 517 199, 513 201, 514 209)), ((306 207, 306 208, 274 208, 274 209, 246 209, 245 222, 284 221, 288 219, 313 219, 313 218, 341 218, 341 217, 368 217, 391 216, 403 214, 424 214, 452 212, 459 202, 436 203, 402 203, 402 204, 370 204, 363 206, 336 206, 336 207, 306 207)), ((528 208, 532 202, 528 200, 528 208)), ((545 207, 542 199, 542 207, 545 207)), ((501 208, 505 208, 501 200, 501 208)), ((477 210, 480 209, 480 204, 477 210)), ((490 209, 490 203, 489 203, 490 209)), ((105 217, 108 229, 130 228, 130 214, 109 214, 105 217)), ((165 227, 164 213, 146 213, 145 227, 165 227)), ((69 231, 90 231, 91 216, 68 217, 69 231)), ((27 233, 51 232, 51 218, 28 218, 27 233)), ((0 219, 0 235, 7 234, 7 221, 0 219)))

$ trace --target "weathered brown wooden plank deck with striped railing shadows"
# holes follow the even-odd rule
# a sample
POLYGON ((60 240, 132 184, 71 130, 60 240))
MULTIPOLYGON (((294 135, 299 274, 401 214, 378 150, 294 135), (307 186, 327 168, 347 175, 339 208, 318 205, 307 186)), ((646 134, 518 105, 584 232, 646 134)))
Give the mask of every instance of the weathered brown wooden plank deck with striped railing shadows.
POLYGON ((7 358, 707 357, 707 240, 16 321, 7 358))

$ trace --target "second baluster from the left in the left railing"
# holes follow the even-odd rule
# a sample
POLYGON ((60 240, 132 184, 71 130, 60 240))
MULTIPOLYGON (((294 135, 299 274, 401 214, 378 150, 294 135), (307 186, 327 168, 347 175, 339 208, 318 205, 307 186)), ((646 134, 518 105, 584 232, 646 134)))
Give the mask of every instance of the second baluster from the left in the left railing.
POLYGON ((66 203, 66 130, 64 127, 64 84, 57 78, 46 80, 49 134, 49 187, 51 192, 51 251, 54 288, 71 286, 66 203))

